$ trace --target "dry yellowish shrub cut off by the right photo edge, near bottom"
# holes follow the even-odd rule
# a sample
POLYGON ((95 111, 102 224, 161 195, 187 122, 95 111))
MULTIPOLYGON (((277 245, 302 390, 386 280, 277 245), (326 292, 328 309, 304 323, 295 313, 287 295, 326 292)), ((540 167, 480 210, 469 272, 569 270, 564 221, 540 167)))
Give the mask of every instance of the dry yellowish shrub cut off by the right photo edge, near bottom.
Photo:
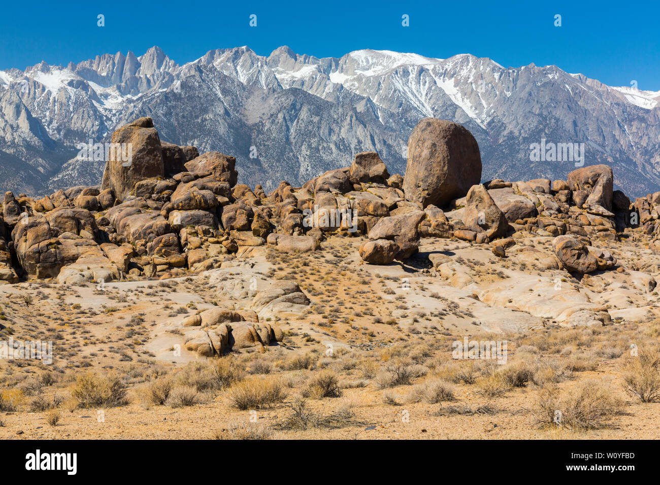
POLYGON ((628 394, 642 403, 660 402, 660 348, 642 346, 637 356, 626 356, 622 377, 628 394))

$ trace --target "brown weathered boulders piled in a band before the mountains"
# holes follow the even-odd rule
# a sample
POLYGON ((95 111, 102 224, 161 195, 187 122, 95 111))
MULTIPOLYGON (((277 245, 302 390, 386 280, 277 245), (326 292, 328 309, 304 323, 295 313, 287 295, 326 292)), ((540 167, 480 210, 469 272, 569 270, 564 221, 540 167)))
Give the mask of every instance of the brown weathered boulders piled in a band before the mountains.
MULTIPOLYGON (((129 145, 131 160, 110 156, 98 187, 41 198, 5 193, 0 281, 174 278, 227 267, 260 246, 322 251, 333 237, 361 238, 358 261, 368 265, 405 262, 422 240, 440 238, 488 245, 502 261, 532 258, 577 277, 618 269, 599 240, 618 242, 635 230, 649 249, 660 247, 660 192, 630 201, 614 190, 605 165, 578 168, 566 181, 480 183, 474 137, 441 119, 414 128, 405 176, 389 174, 378 153, 363 152, 346 168, 302 187, 281 181, 269 193, 238 183, 233 156, 161 141, 148 117, 119 128, 112 143, 129 145), (516 245, 529 237, 552 238, 552 257, 516 245)), ((451 264, 442 261, 444 271, 451 264)), ((277 329, 244 315, 213 325, 203 319, 190 323, 199 323, 190 345, 201 354, 221 352, 231 338, 278 339, 277 329)))

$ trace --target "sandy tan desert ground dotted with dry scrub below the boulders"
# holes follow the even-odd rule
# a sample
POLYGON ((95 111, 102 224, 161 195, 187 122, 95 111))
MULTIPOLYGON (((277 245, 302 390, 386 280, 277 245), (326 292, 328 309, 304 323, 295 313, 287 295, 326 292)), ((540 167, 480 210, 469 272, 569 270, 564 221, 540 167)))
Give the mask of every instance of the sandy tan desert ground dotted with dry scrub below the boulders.
POLYGON ((600 245, 621 270, 576 279, 548 264, 552 237, 520 236, 504 258, 425 238, 405 263, 369 265, 364 236, 332 236, 164 280, 0 286, 0 340, 53 341, 50 365, 0 362, 0 437, 660 437, 660 404, 638 395, 660 381, 658 253, 627 229, 600 245), (269 300, 282 282, 307 301, 269 300), (185 319, 217 306, 256 311, 284 337, 187 350, 185 319), (594 321, 567 325, 576 309, 594 321), (506 362, 454 358, 465 337, 506 341, 506 362))

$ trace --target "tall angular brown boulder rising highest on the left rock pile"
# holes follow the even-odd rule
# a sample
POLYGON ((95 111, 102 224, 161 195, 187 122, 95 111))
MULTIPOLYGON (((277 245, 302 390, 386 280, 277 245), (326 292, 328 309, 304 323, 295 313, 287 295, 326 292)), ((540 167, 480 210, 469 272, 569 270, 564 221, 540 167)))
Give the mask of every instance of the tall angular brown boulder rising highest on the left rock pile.
POLYGON ((112 134, 112 143, 125 143, 127 149, 109 150, 102 190, 113 189, 123 201, 137 182, 164 176, 160 137, 151 118, 136 119, 119 128, 112 134))

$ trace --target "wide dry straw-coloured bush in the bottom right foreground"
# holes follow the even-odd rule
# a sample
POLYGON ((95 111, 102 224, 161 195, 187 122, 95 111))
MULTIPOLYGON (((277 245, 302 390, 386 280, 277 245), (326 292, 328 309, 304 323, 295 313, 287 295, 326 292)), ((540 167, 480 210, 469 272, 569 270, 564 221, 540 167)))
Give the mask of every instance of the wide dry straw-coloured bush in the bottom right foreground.
POLYGON ((593 430, 609 426, 622 406, 622 401, 603 381, 585 381, 561 399, 558 387, 548 385, 539 393, 537 418, 543 424, 593 430))

